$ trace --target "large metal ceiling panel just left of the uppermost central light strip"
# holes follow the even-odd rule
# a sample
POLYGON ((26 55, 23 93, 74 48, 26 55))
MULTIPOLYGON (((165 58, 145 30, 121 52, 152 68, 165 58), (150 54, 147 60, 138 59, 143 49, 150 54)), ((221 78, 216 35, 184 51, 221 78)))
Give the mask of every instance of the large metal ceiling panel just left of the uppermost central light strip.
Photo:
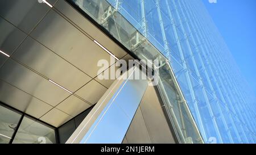
POLYGON ((32 37, 56 52, 90 77, 96 77, 99 60, 108 60, 110 55, 77 30, 55 11, 50 11, 39 26, 32 32, 32 37))

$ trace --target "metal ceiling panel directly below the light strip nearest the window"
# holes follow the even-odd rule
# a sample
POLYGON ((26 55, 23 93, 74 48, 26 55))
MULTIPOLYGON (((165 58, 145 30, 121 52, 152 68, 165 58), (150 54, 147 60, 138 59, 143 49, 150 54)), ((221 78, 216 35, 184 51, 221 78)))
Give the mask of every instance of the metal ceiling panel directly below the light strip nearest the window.
POLYGON ((14 60, 0 69, 0 78, 44 102, 56 106, 70 94, 14 60))

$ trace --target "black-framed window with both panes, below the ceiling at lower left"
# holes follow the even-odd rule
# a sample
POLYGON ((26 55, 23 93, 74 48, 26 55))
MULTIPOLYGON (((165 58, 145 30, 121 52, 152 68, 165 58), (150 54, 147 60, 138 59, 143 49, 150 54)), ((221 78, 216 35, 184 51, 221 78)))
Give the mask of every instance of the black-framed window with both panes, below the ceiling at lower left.
POLYGON ((57 143, 55 128, 0 104, 0 144, 57 143))

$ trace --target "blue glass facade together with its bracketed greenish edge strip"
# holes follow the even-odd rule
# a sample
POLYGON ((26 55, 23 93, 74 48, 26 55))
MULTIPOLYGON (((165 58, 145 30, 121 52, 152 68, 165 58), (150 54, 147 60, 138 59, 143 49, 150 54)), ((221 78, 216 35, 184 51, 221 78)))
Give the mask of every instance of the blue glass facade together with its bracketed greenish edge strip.
POLYGON ((159 87, 185 141, 200 141, 194 118, 205 143, 256 143, 255 100, 200 0, 72 2, 139 58, 167 62, 159 87))

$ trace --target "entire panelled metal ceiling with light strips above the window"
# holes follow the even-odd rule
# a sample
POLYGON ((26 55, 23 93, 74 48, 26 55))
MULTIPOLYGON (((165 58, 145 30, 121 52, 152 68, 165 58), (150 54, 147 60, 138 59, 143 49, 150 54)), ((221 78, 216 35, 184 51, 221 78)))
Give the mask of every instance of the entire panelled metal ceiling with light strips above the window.
POLYGON ((52 9, 36 0, 0 1, 0 50, 10 55, 0 53, 0 101, 59 127, 114 82, 97 78, 98 60, 115 61, 93 40, 118 58, 126 52, 67 2, 48 2, 52 9))

